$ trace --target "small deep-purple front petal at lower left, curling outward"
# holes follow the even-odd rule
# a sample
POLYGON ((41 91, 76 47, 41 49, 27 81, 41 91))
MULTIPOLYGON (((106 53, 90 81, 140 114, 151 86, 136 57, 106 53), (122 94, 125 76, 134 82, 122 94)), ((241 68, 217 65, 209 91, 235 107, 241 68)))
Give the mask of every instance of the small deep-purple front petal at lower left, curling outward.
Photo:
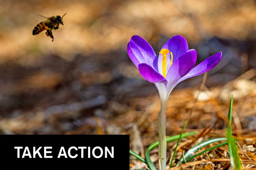
POLYGON ((152 68, 148 64, 139 64, 138 68, 142 77, 148 80, 149 82, 158 83, 165 80, 165 78, 161 74, 156 72, 156 70, 154 70, 154 68, 152 68))

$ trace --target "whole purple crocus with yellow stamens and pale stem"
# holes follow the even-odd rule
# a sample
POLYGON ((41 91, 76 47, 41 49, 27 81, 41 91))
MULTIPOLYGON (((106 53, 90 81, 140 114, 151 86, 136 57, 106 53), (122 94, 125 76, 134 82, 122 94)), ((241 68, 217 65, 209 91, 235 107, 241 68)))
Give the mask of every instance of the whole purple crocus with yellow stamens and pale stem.
POLYGON ((154 83, 160 95, 161 110, 158 116, 158 123, 159 147, 162 145, 162 148, 159 148, 159 158, 161 158, 161 169, 165 170, 165 111, 168 97, 178 83, 214 68, 220 62, 222 52, 212 55, 194 67, 197 57, 196 50, 189 50, 186 39, 180 35, 169 39, 160 50, 158 57, 156 57, 156 53, 150 44, 138 35, 132 36, 127 45, 127 51, 132 62, 138 67, 142 77, 154 83))

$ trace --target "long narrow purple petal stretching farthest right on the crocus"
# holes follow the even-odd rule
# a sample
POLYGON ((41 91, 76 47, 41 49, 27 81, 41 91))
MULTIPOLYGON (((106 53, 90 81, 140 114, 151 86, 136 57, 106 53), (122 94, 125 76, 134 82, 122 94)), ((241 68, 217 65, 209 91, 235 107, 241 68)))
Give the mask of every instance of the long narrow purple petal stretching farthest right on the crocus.
POLYGON ((182 77, 179 82, 182 82, 183 80, 186 80, 187 78, 191 78, 194 76, 198 76, 200 74, 203 74, 212 68, 214 68, 221 60, 222 58, 222 52, 219 52, 217 54, 212 55, 211 57, 208 57, 206 60, 204 60, 202 63, 198 64, 188 74, 184 77, 182 77))

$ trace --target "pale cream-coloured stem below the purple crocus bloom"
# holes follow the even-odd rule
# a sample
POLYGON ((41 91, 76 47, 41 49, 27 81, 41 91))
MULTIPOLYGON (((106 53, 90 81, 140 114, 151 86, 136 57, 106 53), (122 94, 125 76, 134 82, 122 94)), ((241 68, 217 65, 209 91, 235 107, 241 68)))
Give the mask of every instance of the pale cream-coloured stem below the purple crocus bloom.
POLYGON ((158 113, 158 157, 160 160, 160 170, 166 170, 166 103, 167 100, 161 100, 161 110, 158 113))

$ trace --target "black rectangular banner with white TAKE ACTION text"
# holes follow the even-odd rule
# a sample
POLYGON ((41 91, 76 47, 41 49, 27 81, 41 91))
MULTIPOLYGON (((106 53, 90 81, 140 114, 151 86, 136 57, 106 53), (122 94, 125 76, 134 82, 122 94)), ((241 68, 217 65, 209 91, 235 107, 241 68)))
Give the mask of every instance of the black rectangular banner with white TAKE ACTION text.
POLYGON ((0 135, 8 169, 128 170, 129 135, 0 135))

